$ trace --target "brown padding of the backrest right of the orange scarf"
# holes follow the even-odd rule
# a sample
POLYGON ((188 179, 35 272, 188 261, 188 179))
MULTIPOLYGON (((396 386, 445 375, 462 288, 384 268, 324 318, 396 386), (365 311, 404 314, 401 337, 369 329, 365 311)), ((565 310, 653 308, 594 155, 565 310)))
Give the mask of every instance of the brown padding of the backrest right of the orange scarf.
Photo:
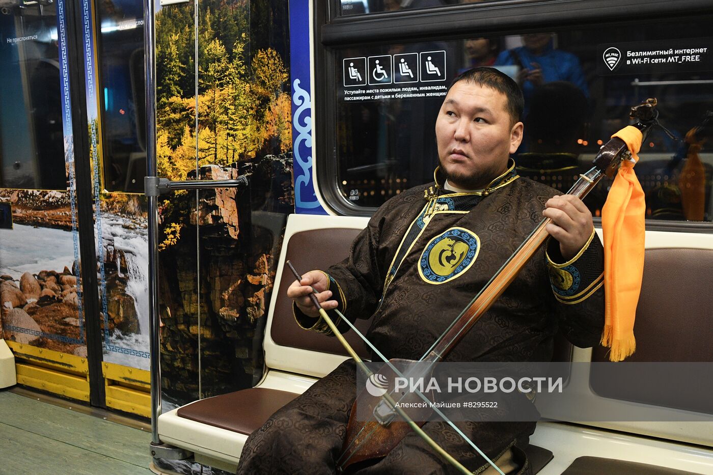
MULTIPOLYGON (((634 327, 636 352, 627 362, 713 362, 712 269, 710 249, 646 250, 634 327)), ((607 349, 595 348, 592 361, 608 362, 607 349)), ((680 394, 672 397, 652 382, 639 381, 645 375, 638 376, 635 368, 632 384, 625 386, 611 384, 605 373, 602 369, 590 374, 591 387, 600 396, 713 413, 707 391, 691 390, 683 400, 680 394)))

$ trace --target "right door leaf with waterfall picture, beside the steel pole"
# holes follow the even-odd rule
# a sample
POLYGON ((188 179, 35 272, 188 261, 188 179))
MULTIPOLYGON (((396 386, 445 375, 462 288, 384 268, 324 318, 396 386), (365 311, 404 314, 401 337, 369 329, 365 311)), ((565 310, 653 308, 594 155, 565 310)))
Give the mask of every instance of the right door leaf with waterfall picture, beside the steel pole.
POLYGON ((106 405, 148 416, 137 403, 150 390, 148 205, 125 193, 143 191, 146 171, 143 1, 93 8, 86 74, 106 405))

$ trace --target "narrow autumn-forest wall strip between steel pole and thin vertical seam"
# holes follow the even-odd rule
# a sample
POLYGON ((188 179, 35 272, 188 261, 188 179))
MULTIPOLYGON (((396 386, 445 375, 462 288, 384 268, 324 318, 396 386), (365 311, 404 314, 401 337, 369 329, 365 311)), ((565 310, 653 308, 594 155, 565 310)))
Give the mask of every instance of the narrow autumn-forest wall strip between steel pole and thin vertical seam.
MULTIPOLYGON (((169 180, 195 180, 193 2, 160 7, 156 1, 155 5, 158 175, 169 180)), ((164 412, 200 397, 197 193, 180 190, 160 196, 158 202, 164 412)), ((161 463, 170 468, 168 461, 161 463)))

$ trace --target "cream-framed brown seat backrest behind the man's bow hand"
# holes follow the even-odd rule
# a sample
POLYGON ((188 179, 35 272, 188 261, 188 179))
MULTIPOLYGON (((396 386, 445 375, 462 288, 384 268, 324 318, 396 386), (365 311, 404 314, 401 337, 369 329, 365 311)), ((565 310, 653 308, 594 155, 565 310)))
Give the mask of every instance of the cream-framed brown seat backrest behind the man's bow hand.
MULTIPOLYGON (((334 337, 303 330, 292 313, 292 301, 285 295, 294 282, 289 267, 297 272, 326 269, 349 255, 352 241, 366 227, 368 218, 342 216, 290 215, 282 242, 275 287, 265 329, 265 363, 267 367, 297 374, 322 377, 347 358, 347 352, 334 337)), ((364 333, 371 320, 356 320, 364 333)), ((344 333, 361 357, 369 352, 358 335, 344 333)))

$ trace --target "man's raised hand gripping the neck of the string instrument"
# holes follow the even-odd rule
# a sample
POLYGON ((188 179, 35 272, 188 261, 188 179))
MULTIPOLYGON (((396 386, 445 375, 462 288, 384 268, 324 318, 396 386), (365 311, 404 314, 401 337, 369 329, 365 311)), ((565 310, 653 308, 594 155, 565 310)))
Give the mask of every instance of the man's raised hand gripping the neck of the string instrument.
POLYGON ((582 250, 592 235, 592 213, 574 195, 553 196, 545 206, 542 214, 552 220, 545 230, 560 243, 560 252, 566 262, 582 250))

